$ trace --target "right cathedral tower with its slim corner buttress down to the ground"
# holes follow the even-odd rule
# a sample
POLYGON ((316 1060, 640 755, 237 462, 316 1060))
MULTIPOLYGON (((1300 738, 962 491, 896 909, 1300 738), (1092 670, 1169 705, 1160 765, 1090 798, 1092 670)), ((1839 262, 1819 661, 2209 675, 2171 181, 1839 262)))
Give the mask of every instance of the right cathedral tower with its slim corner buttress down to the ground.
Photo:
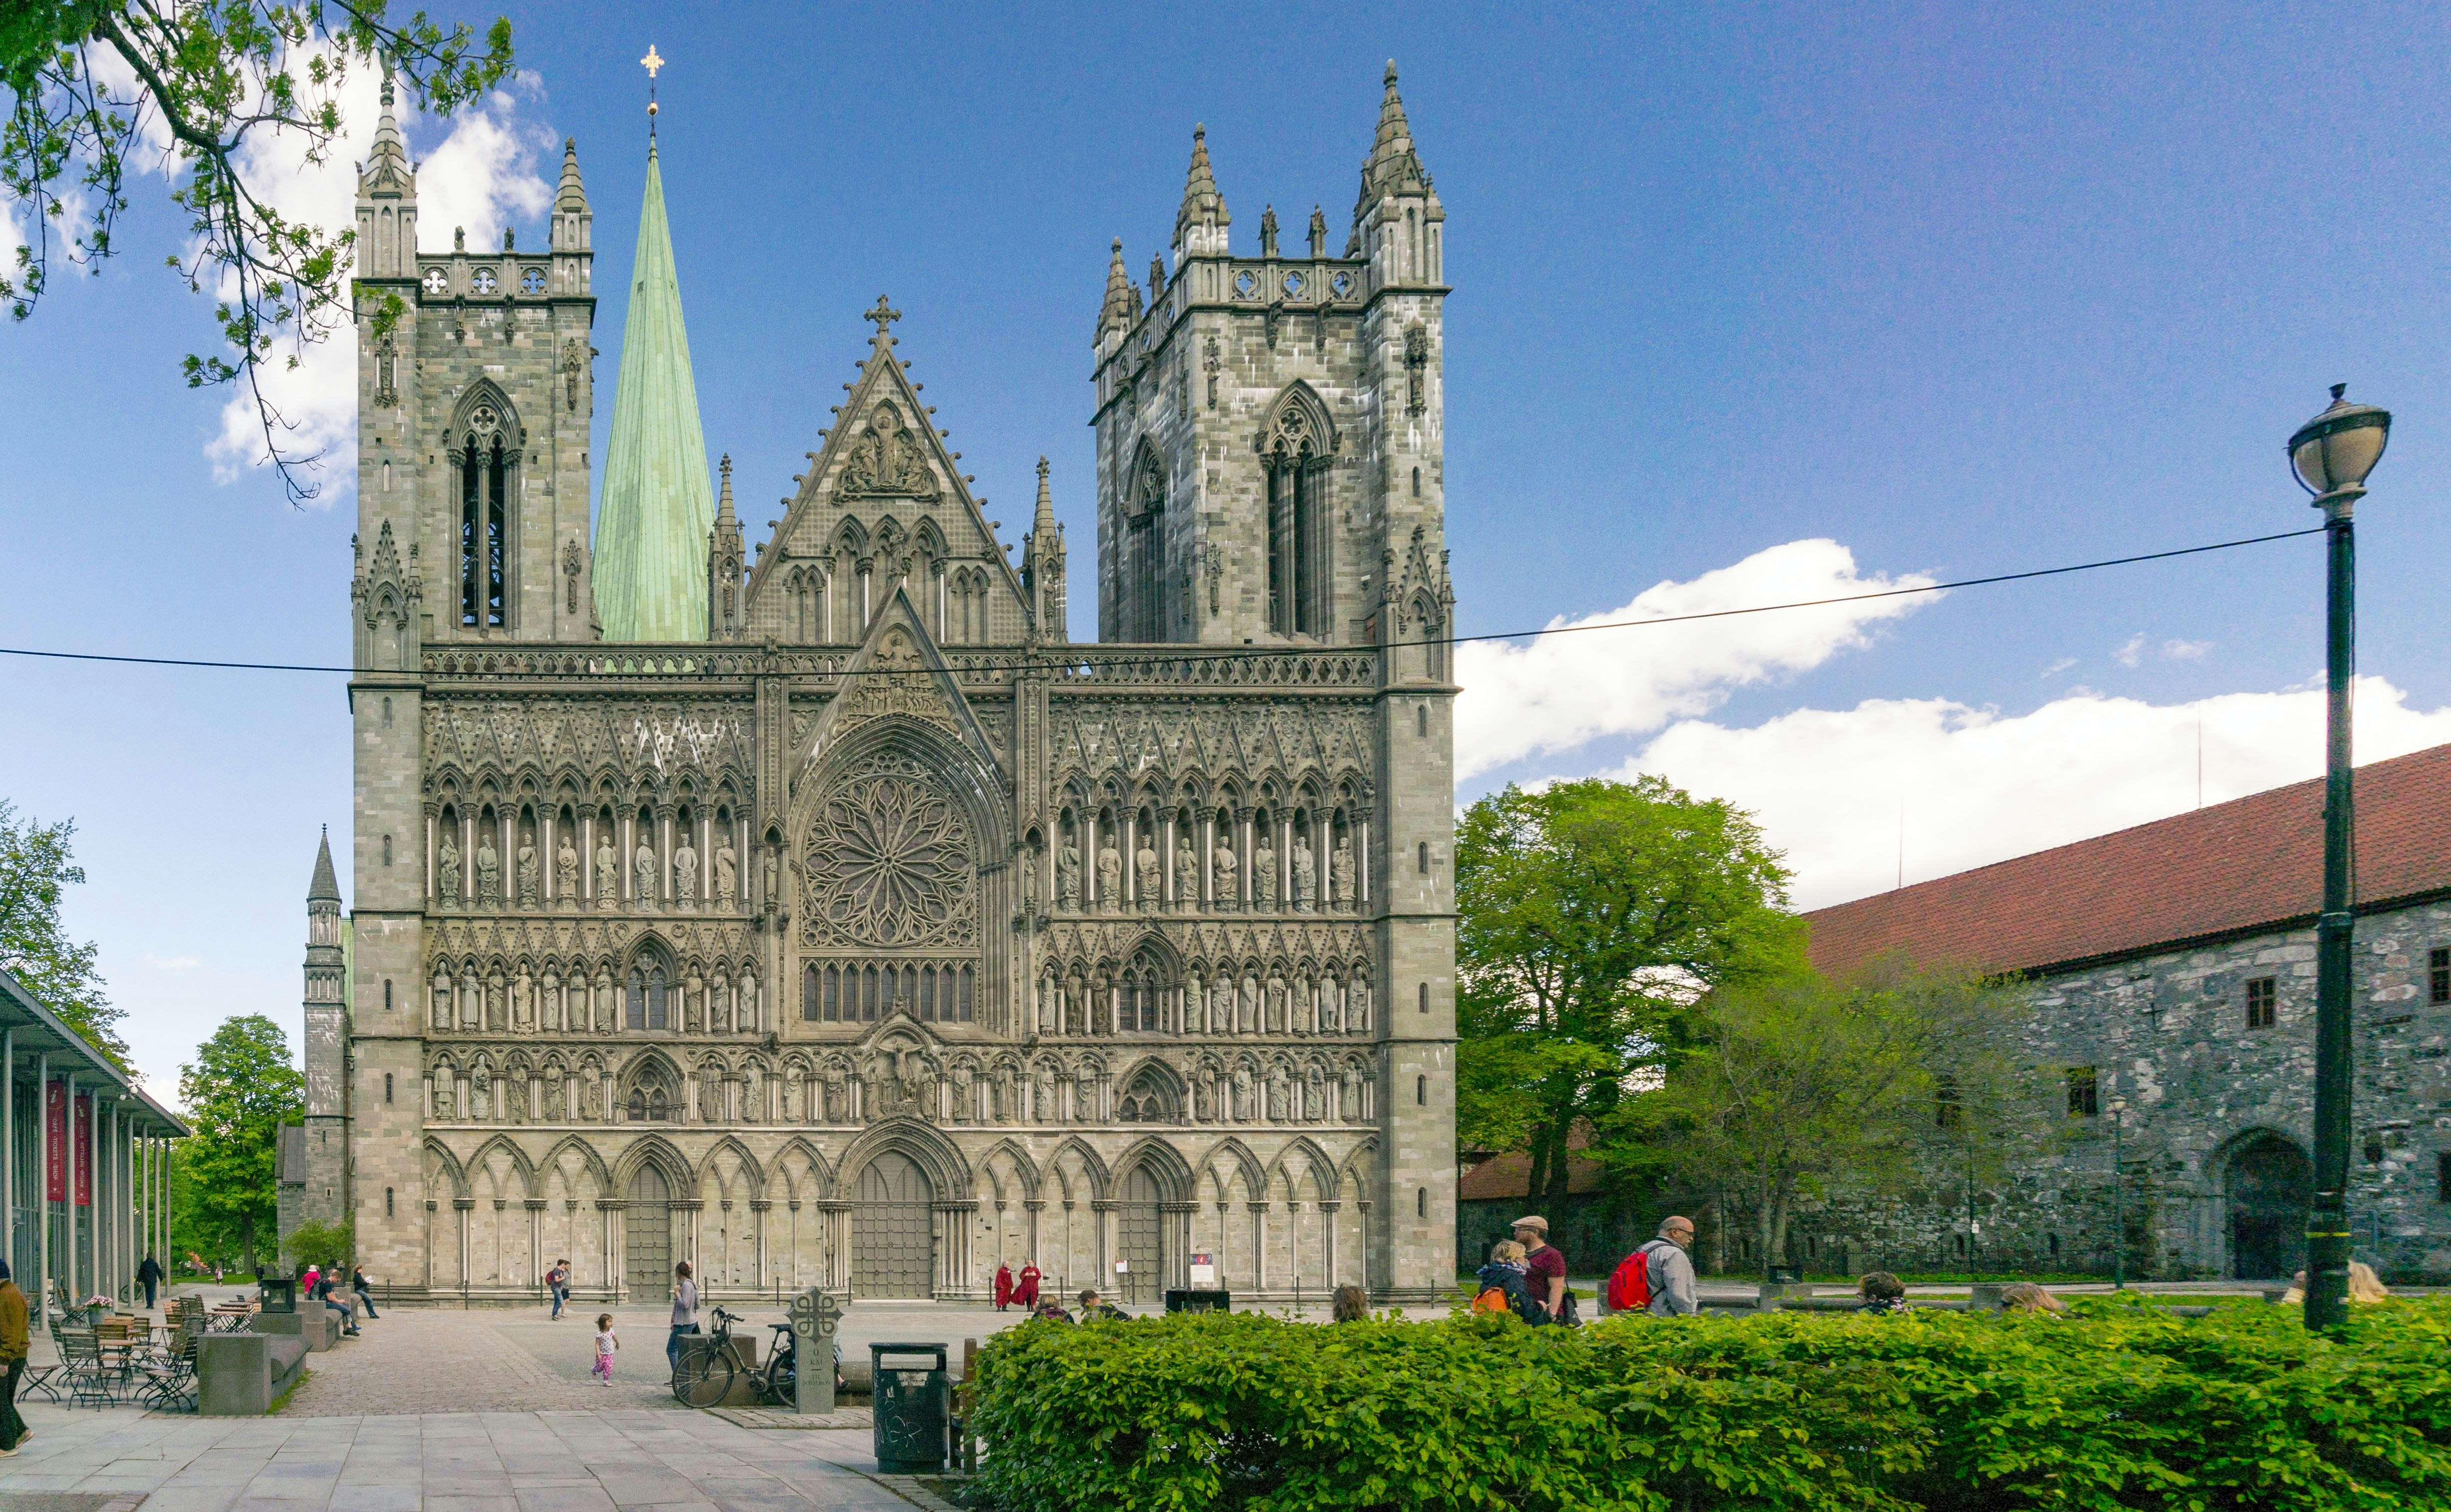
MULTIPOLYGON (((1453 735, 1441 441, 1446 211, 1412 145, 1395 61, 1353 228, 1314 206, 1279 245, 1228 248, 1208 132, 1147 304, 1113 248, 1096 333, 1098 640, 1382 649, 1377 838, 1397 997, 1380 1108, 1390 1274, 1444 1287, 1453 1255, 1453 735)), ((1270 811, 1301 794, 1252 794, 1270 811)), ((1248 826, 1248 818, 1245 818, 1248 826)), ((1287 855, 1294 841, 1272 850, 1287 855)))

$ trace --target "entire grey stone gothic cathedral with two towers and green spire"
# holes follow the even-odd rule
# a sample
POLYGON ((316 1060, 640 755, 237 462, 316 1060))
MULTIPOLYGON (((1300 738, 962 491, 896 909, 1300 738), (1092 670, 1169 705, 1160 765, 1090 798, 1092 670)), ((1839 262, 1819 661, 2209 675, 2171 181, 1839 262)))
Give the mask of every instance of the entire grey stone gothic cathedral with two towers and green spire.
POLYGON ((598 485, 576 147, 542 248, 466 245, 385 96, 304 1218, 436 1299, 561 1257, 608 1299, 681 1257, 711 1296, 1453 1284, 1446 225, 1395 66, 1341 248, 1228 225, 1194 132, 1172 248, 1105 270, 1078 644, 1061 480, 1015 564, 885 299, 750 537, 652 135, 598 485))

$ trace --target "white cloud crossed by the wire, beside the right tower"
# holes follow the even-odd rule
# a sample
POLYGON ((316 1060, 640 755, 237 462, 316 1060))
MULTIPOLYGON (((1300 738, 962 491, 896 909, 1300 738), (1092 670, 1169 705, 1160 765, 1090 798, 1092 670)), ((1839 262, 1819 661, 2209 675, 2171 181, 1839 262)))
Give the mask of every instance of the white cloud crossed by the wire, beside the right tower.
MULTIPOLYGON (((1620 610, 1551 627, 1752 608, 1885 588, 1922 588, 1926 576, 1855 571, 1838 542, 1789 542, 1691 583, 1657 583, 1620 610)), ((1640 735, 1694 718, 1748 684, 1809 671, 1870 644, 1870 627, 1936 595, 1873 598, 1809 610, 1691 620, 1657 630, 1544 635, 1529 644, 1458 647, 1456 772, 1473 777, 1507 762, 1559 752, 1605 735, 1640 735)))

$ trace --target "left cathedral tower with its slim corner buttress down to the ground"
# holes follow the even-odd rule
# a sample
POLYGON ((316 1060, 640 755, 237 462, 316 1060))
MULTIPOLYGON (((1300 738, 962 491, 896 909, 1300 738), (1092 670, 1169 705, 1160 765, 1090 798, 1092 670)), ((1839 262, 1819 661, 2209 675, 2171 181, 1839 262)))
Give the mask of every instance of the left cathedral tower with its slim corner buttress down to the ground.
POLYGON ((311 1039, 306 1068, 309 1088, 319 1076, 341 1088, 343 1191, 358 1255, 382 1277, 424 1274, 429 1201, 451 1213, 451 1193, 424 1191, 414 1091, 436 826, 424 799, 426 657, 596 640, 591 223, 578 149, 564 142, 542 252, 522 252, 507 230, 500 248, 471 248, 458 228, 449 252, 419 252, 417 164, 385 83, 358 172, 355 1012, 348 1056, 333 1049, 319 1064, 311 1039))

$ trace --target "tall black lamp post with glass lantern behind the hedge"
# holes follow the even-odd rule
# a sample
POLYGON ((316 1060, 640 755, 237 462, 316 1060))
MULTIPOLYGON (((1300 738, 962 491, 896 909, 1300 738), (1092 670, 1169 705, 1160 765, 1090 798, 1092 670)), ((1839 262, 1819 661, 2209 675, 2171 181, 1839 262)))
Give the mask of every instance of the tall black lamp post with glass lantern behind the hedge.
POLYGON ((2355 914, 2358 804, 2351 792, 2348 681, 2358 667, 2358 539, 2351 515, 2365 475, 2382 461, 2392 417, 2341 397, 2289 436, 2289 466, 2324 510, 2326 686, 2324 706, 2324 917, 2316 921, 2314 1007, 2314 1203, 2306 1211, 2306 1328, 2333 1328, 2348 1316, 2348 936, 2355 914))

